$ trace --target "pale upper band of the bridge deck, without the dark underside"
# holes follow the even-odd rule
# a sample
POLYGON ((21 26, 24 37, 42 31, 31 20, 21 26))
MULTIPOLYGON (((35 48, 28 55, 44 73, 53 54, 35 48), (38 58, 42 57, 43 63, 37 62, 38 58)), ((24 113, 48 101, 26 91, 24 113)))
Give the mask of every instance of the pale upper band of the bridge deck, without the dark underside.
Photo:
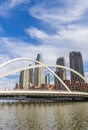
POLYGON ((88 93, 87 92, 67 92, 67 91, 0 90, 0 96, 88 97, 88 93))

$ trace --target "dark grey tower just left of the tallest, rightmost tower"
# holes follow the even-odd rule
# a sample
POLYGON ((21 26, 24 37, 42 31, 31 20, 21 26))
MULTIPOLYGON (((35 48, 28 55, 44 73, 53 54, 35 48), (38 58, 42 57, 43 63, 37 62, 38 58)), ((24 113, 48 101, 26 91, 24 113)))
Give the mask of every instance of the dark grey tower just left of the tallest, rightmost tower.
MULTIPOLYGON (((64 57, 57 58, 56 64, 57 64, 57 65, 66 66, 65 58, 64 58, 64 57)), ((56 74, 59 76, 59 78, 61 78, 62 80, 66 80, 66 70, 65 70, 65 69, 62 69, 62 68, 57 67, 55 73, 56 73, 56 74)), ((62 86, 62 84, 60 83, 60 81, 59 81, 57 78, 55 78, 55 86, 56 86, 57 88, 59 88, 59 87, 62 86)))

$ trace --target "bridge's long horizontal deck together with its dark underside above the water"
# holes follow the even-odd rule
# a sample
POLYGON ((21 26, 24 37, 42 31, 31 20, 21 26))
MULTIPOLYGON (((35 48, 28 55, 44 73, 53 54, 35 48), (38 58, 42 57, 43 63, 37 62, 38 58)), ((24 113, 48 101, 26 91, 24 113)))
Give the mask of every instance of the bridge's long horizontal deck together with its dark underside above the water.
POLYGON ((33 91, 8 90, 0 91, 0 99, 17 99, 31 101, 88 101, 88 93, 67 91, 33 91), (47 100, 46 100, 47 99, 47 100))

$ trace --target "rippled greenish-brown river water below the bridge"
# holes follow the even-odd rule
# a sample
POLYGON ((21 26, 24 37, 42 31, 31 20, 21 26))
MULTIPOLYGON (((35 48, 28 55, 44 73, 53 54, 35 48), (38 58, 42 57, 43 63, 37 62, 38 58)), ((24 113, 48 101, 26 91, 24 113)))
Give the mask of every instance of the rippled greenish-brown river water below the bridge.
POLYGON ((0 130, 88 130, 88 103, 2 101, 0 130))

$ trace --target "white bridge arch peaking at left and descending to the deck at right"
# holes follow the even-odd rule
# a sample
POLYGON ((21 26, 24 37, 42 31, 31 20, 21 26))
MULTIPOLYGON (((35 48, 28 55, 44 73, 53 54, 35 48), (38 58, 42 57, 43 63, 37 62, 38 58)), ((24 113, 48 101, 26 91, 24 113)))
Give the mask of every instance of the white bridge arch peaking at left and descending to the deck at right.
POLYGON ((68 88, 68 86, 63 82, 63 80, 62 80, 59 76, 57 76, 57 75, 55 74, 55 72, 52 71, 52 69, 50 69, 47 65, 45 65, 45 64, 43 64, 43 63, 41 63, 41 62, 39 62, 39 61, 36 61, 36 60, 34 60, 34 59, 31 59, 31 58, 17 58, 17 59, 9 60, 9 61, 7 61, 7 62, 1 64, 1 65, 0 65, 0 68, 1 68, 1 67, 4 67, 4 66, 6 66, 6 65, 8 65, 8 64, 10 64, 10 63, 13 63, 13 62, 15 62, 15 61, 22 61, 22 60, 33 61, 33 62, 35 62, 35 63, 40 64, 42 67, 45 67, 46 69, 48 69, 48 70, 64 85, 64 87, 66 88, 67 91, 71 92, 71 90, 68 88))

